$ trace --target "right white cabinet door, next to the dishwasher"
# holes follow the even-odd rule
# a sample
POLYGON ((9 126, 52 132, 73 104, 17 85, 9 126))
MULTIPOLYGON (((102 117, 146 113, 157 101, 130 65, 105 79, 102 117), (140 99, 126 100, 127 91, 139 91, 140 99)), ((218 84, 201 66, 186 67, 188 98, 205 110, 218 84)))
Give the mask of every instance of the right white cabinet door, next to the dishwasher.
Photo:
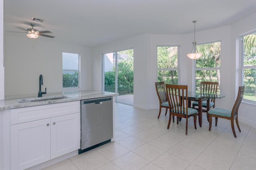
POLYGON ((80 113, 51 118, 51 159, 80 148, 80 113))

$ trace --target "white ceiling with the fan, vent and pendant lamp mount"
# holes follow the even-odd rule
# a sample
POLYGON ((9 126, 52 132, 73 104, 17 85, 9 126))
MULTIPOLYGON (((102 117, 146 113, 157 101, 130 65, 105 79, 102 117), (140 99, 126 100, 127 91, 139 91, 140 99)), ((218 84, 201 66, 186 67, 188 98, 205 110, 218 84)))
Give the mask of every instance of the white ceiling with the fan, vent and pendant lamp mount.
POLYGON ((95 47, 144 33, 193 33, 193 20, 196 31, 222 27, 255 12, 256 0, 4 0, 4 33, 26 37, 6 31, 35 23, 55 36, 38 39, 95 47))

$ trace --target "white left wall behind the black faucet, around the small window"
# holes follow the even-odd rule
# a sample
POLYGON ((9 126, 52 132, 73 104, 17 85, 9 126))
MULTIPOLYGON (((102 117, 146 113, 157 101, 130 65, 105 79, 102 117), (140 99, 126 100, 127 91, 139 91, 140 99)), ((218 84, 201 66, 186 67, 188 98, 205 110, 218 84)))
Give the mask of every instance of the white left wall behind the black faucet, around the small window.
POLYGON ((91 48, 53 43, 26 36, 5 35, 5 95, 32 94, 39 91, 39 75, 43 75, 42 91, 62 91, 62 52, 80 54, 81 90, 92 88, 91 48), (33 45, 34 44, 34 45, 33 45))

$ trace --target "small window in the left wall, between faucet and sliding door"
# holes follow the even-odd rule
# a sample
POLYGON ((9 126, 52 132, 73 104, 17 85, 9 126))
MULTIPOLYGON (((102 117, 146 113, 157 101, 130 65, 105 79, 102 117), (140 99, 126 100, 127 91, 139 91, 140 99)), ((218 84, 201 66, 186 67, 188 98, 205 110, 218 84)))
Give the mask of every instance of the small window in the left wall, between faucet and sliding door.
POLYGON ((79 88, 79 54, 62 53, 62 87, 79 88))

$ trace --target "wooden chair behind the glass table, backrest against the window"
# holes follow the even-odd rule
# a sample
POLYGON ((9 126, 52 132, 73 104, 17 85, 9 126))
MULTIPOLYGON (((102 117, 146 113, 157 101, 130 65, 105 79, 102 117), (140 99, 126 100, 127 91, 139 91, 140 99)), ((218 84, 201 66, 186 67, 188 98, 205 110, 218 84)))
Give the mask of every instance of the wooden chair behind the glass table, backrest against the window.
MULTIPOLYGON (((218 90, 218 82, 201 82, 200 85, 200 94, 217 94, 218 90)), ((202 102, 202 112, 206 112, 207 110, 210 110, 211 107, 215 107, 215 98, 209 98, 209 108, 207 108, 207 101, 202 102)), ((198 102, 192 103, 192 108, 198 109, 198 102), (196 108, 197 106, 197 108, 196 108)), ((208 119, 207 114, 207 119, 208 119)))

